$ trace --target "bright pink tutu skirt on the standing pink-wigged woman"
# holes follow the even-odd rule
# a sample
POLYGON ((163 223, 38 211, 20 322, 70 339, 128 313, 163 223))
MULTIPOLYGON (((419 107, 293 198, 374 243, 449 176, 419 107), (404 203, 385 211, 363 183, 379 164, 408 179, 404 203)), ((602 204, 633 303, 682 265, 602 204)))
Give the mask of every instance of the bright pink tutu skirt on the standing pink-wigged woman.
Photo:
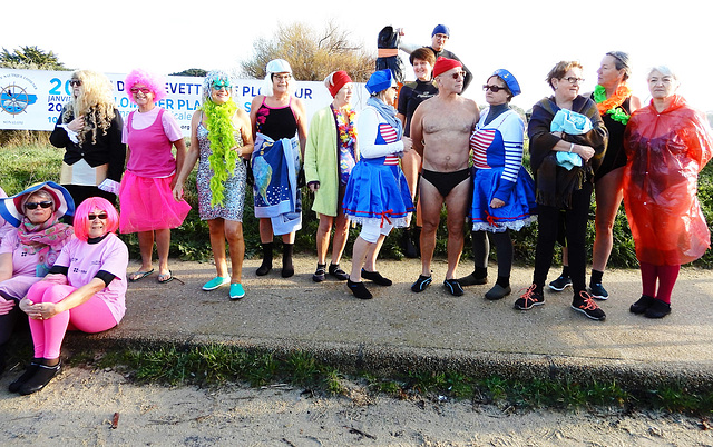
POLYGON ((119 187, 119 231, 123 234, 152 231, 180 227, 191 205, 174 200, 170 182, 175 175, 165 178, 139 177, 124 173, 119 187))

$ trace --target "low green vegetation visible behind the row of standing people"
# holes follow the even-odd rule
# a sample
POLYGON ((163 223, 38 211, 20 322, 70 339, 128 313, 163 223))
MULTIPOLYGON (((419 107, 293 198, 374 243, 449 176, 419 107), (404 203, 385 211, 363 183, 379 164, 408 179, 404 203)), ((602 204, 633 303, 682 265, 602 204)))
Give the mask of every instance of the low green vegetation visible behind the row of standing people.
MULTIPOLYGON (((0 147, 2 163, 0 163, 0 187, 8 195, 21 191, 27 186, 52 180, 58 181, 61 157, 64 151, 47 143, 47 132, 16 132, 12 138, 6 138, 6 142, 0 147)), ((525 166, 529 166, 529 160, 525 160, 525 166)), ((188 217, 180 228, 172 231, 172 256, 186 260, 208 260, 212 258, 211 242, 208 237, 208 226, 198 218, 198 198, 195 189, 195 171, 186 181, 185 197, 193 207, 188 217)), ((699 180, 699 200, 703 208, 709 229, 713 225, 713 163, 703 169, 699 180)), ((319 220, 311 211, 313 196, 306 188, 302 190, 302 230, 297 231, 295 240, 295 252, 314 254, 315 235, 319 220)), ((258 221, 255 219, 253 210, 253 195, 248 189, 245 197, 245 210, 243 215, 243 230, 245 237, 246 257, 260 256, 260 234, 258 221)), ((594 241, 594 200, 589 211, 589 231, 587 232, 587 250, 592 252, 594 241)), ((447 231, 445 228, 445 211, 441 216, 441 226, 437 234, 436 256, 446 256, 447 231)), ((394 230, 384 241, 381 257, 390 259, 401 259, 403 257, 400 241, 401 230, 394 230)), ((359 227, 350 230, 349 242, 346 244, 346 256, 351 256, 352 244, 359 235, 359 227)), ((531 266, 535 261, 535 245, 537 241, 537 226, 530 226, 521 231, 514 231, 512 242, 515 248, 515 260, 520 265, 531 266)), ((120 235, 129 246, 133 258, 139 256, 138 240, 136 235, 120 235)), ((275 238, 280 244, 280 238, 275 238)), ((492 255, 495 259, 495 254, 492 255)), ((463 259, 472 257, 470 250, 470 235, 466 235, 463 259)), ((693 262, 694 266, 713 268, 713 250, 693 262)), ((634 268, 637 266, 634 241, 626 221, 624 207, 619 209, 614 225, 614 248, 608 262, 609 267, 634 268)))

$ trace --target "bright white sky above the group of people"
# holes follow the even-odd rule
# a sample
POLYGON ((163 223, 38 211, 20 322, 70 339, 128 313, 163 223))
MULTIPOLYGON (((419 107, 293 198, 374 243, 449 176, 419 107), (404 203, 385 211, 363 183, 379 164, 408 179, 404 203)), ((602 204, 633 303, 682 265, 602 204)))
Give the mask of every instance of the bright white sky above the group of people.
MULTIPOLYGON (((692 0, 28 0, 3 7, 0 47, 12 51, 37 46, 53 51, 68 68, 107 73, 134 68, 164 74, 188 68, 233 71, 253 56, 257 38, 270 39, 281 24, 303 22, 321 31, 332 21, 375 54, 377 36, 384 26, 402 27, 406 42, 429 44, 433 27, 445 23, 451 31, 446 48, 473 73, 465 95, 480 105, 485 103, 480 86, 492 71, 505 68, 522 89, 512 103, 529 109, 551 95, 544 79, 560 60, 583 63, 586 81, 580 92, 589 92, 604 54, 619 50, 632 57, 629 86, 642 100, 648 100, 648 70, 666 64, 678 74, 678 92, 707 111, 713 110, 712 23, 702 4, 692 0), (427 11, 424 4, 434 6, 427 11)), ((413 79, 408 56, 401 54, 407 79, 413 79)))

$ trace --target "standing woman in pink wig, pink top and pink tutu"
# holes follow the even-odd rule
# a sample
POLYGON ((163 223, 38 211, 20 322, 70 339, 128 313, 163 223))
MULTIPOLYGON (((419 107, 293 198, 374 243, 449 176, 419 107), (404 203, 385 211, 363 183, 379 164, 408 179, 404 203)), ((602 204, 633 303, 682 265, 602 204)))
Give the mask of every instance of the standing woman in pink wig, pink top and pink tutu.
POLYGON ((123 140, 129 156, 119 188, 119 230, 138 232, 141 252, 141 267, 129 275, 129 281, 138 281, 154 271, 154 241, 158 252, 158 282, 173 279, 168 269, 170 229, 179 227, 191 210, 185 200, 174 200, 173 196, 186 145, 174 116, 156 106, 156 101, 166 96, 165 86, 162 78, 143 70, 131 71, 125 81, 129 99, 138 110, 129 113, 124 126, 123 140))

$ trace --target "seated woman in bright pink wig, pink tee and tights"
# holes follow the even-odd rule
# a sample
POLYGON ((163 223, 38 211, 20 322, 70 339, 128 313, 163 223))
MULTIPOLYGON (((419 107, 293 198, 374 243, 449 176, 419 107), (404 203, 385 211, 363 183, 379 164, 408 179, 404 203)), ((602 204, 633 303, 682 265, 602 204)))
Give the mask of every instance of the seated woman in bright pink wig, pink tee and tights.
POLYGON ((10 391, 39 391, 59 372, 67 330, 101 332, 124 317, 129 252, 114 234, 118 226, 116 209, 104 198, 90 197, 77 208, 76 238, 20 300, 20 309, 30 318, 35 359, 10 384, 10 391))

